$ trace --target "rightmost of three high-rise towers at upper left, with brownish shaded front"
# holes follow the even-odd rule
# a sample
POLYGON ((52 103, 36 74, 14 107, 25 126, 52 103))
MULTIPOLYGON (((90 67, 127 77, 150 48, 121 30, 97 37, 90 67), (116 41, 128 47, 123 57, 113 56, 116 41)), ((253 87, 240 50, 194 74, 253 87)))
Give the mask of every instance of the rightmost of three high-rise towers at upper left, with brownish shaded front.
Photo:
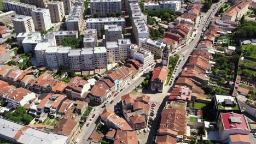
POLYGON ((63 2, 52 1, 48 3, 48 8, 50 10, 51 22, 53 23, 61 22, 65 17, 63 2))

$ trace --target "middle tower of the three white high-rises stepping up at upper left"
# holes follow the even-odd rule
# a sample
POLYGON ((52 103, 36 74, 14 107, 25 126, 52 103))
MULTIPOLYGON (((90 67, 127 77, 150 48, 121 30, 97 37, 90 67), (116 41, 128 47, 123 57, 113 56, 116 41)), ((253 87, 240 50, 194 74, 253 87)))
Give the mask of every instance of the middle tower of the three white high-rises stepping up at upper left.
POLYGON ((47 31, 52 27, 49 9, 37 8, 32 11, 32 17, 36 30, 47 31))

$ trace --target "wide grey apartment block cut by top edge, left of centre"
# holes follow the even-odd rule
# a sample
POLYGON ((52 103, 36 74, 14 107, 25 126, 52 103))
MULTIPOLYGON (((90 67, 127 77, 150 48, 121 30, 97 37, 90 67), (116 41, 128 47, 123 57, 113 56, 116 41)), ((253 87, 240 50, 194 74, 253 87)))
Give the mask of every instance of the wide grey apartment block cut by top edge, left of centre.
POLYGON ((91 15, 117 14, 121 11, 121 0, 92 0, 90 7, 91 15))

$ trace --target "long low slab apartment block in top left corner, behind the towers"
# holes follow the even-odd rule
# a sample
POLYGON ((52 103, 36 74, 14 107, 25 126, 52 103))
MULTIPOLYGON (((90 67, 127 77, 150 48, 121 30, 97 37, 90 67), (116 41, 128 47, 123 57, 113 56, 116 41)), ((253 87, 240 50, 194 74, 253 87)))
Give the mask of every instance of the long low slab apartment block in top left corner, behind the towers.
POLYGON ((2 2, 3 9, 6 11, 15 11, 16 14, 19 15, 28 15, 31 16, 32 10, 36 9, 36 5, 26 4, 26 3, 20 3, 16 1, 3 1, 2 2))

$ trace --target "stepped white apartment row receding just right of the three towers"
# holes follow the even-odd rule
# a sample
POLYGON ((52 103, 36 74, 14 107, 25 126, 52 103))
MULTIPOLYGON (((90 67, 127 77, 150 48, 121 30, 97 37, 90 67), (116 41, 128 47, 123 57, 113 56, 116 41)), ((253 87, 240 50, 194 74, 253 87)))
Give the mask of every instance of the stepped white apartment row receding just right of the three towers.
POLYGON ((80 5, 73 5, 66 19, 67 31, 80 31, 83 23, 83 8, 80 5))

